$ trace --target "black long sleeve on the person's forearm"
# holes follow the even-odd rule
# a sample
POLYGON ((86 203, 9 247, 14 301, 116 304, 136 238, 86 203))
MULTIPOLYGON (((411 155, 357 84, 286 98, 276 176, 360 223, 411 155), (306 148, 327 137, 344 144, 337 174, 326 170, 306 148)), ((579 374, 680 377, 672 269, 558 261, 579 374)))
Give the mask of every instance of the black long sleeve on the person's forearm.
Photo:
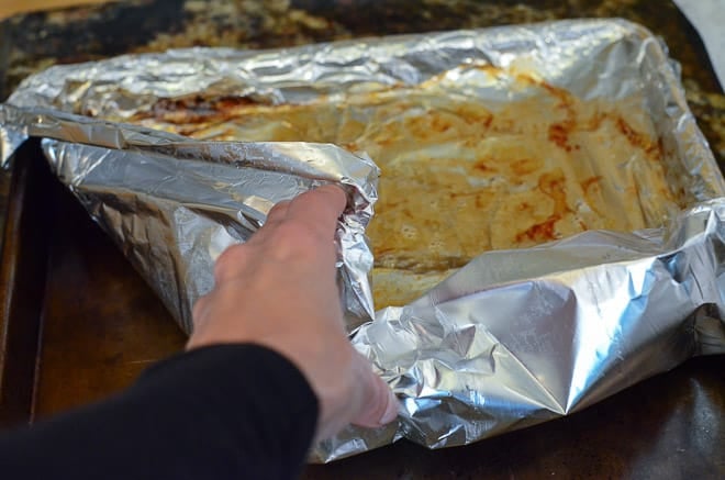
POLYGON ((285 357, 255 345, 181 354, 126 391, 0 434, 3 479, 288 479, 317 400, 285 357))

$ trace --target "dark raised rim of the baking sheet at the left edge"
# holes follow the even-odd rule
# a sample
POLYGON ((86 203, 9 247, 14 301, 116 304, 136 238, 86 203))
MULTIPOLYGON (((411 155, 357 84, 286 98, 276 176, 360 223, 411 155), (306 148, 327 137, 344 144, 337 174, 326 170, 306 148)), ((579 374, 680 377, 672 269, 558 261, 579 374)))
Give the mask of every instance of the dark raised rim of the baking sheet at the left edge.
POLYGON ((47 193, 57 188, 38 141, 21 146, 12 165, 0 253, 0 427, 32 418, 52 237, 47 193))

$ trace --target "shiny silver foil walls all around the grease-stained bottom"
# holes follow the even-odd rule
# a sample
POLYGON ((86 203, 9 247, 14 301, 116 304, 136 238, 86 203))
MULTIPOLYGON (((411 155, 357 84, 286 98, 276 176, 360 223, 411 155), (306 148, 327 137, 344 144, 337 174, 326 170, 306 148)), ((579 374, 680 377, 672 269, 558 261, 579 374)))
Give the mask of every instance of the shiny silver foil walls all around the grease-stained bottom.
MULTIPOLYGON (((476 88, 499 103, 521 94, 506 85, 476 88)), ((313 461, 403 437, 430 448, 466 445, 581 410, 693 355, 725 353, 725 181, 677 65, 626 21, 122 56, 52 67, 26 79, 9 103, 0 110, 2 158, 27 136, 51 138, 43 147, 62 180, 187 330, 191 302, 211 288, 215 256, 258 227, 275 201, 320 182, 349 186, 353 209, 339 235, 348 326, 397 392, 399 418, 380 429, 349 427, 319 444, 313 461), (58 112, 122 122, 159 98, 197 92, 302 103, 350 88, 417 85, 478 62, 582 99, 642 96, 668 182, 685 208, 661 228, 486 253, 417 300, 362 323, 371 311, 364 274, 372 258, 362 236, 376 200, 369 161, 331 146, 208 143, 58 112)))

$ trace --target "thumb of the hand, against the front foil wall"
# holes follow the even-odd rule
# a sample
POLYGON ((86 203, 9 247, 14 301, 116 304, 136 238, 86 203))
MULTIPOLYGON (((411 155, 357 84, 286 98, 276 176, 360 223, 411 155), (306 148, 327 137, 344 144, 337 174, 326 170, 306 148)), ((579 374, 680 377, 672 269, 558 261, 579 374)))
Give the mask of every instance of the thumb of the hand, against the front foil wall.
POLYGON ((355 353, 355 370, 359 371, 359 410, 353 416, 352 423, 365 427, 386 425, 398 416, 398 399, 388 383, 372 371, 370 362, 359 353, 355 353))

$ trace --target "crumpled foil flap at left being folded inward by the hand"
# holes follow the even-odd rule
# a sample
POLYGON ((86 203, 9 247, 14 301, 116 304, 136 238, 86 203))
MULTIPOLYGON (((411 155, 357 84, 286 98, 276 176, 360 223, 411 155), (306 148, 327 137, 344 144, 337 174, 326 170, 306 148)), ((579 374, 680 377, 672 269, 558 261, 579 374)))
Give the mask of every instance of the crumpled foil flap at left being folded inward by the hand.
POLYGON ((114 239, 181 328, 213 284, 213 265, 282 200, 325 183, 348 192, 338 222, 339 286, 353 330, 375 315, 365 226, 377 200, 372 161, 334 145, 198 142, 58 111, 0 105, 0 155, 30 136, 58 178, 114 239))

